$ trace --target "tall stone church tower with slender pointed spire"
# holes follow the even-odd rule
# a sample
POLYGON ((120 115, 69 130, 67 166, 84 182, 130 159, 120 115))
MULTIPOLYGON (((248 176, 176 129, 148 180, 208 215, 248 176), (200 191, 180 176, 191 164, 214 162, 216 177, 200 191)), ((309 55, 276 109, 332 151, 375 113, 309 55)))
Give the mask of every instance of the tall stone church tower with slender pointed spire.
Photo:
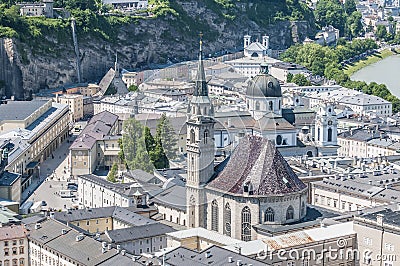
POLYGON ((205 227, 206 225, 207 204, 204 186, 214 173, 214 107, 208 97, 202 56, 202 40, 200 39, 196 85, 188 105, 186 121, 188 227, 205 227))

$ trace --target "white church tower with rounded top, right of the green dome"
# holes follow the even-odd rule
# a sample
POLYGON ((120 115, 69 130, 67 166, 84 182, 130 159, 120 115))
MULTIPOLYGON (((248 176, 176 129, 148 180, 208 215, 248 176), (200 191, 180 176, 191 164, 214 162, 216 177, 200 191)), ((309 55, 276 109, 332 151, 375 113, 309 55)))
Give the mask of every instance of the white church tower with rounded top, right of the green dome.
POLYGON ((315 142, 319 146, 337 145, 337 118, 334 105, 324 102, 315 117, 315 142))

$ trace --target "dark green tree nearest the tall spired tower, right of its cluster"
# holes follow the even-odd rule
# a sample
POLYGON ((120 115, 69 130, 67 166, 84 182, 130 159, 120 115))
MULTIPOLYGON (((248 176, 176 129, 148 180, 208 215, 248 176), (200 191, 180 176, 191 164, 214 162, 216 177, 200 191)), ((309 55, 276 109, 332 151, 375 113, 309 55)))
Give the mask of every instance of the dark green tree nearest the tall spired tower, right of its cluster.
POLYGON ((161 140, 165 154, 170 160, 176 158, 178 155, 178 139, 176 137, 176 132, 165 113, 162 114, 160 120, 158 121, 155 139, 161 140))

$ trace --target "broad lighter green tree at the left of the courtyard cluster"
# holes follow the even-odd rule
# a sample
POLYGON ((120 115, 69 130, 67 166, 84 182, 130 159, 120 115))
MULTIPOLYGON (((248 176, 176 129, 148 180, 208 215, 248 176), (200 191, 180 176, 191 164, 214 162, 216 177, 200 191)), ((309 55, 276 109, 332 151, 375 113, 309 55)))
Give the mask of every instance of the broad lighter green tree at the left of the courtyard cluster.
POLYGON ((142 169, 151 173, 154 165, 146 148, 145 127, 134 118, 123 124, 122 146, 125 164, 129 169, 142 169))

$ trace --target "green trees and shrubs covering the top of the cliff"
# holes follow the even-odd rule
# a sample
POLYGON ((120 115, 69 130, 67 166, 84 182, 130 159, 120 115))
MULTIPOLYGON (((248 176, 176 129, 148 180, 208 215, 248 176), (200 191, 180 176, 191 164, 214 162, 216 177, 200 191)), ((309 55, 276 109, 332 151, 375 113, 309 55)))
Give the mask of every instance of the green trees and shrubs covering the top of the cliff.
MULTIPOLYGON (((220 20, 240 22, 243 17, 248 17, 261 26, 281 20, 313 21, 312 12, 297 0, 199 0, 198 3, 219 15, 220 20)), ((0 37, 18 38, 36 45, 37 38, 55 30, 61 34, 57 36, 59 41, 64 40, 63 35, 70 34, 69 19, 21 17, 15 4, 13 1, 0 0, 0 37)), ((54 6, 71 12, 77 27, 83 29, 81 34, 91 34, 109 41, 116 39, 123 25, 158 17, 166 17, 176 27, 187 29, 188 34, 198 34, 199 31, 207 33, 209 30, 207 21, 188 15, 176 0, 150 0, 151 8, 134 16, 124 16, 118 12, 110 15, 113 12, 111 8, 99 0, 56 0, 54 6), (106 12, 107 15, 104 15, 106 12)), ((216 38, 215 32, 211 32, 209 38, 216 38)))

